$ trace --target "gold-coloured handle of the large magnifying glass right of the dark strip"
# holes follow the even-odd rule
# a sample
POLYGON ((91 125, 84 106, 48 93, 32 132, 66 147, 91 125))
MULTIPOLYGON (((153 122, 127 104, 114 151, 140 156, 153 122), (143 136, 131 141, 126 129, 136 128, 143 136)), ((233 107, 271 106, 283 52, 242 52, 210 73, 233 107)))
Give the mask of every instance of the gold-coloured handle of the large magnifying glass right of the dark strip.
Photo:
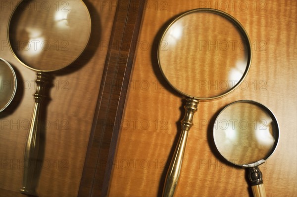
POLYGON ((182 133, 178 140, 177 147, 175 148, 173 158, 171 160, 163 190, 163 197, 173 197, 175 188, 178 183, 180 171, 182 168, 182 162, 184 152, 187 144, 187 138, 190 128, 193 126, 193 116, 197 112, 197 106, 199 101, 196 99, 187 98, 186 100, 186 114, 182 119, 182 133))

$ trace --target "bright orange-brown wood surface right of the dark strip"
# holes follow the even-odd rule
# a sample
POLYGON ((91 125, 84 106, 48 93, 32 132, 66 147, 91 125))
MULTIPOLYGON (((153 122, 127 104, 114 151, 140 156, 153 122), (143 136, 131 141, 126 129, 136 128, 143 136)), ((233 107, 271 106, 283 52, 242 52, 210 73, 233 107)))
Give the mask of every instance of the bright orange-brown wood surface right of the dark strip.
MULTIPOLYGON (((260 166, 267 196, 297 196, 297 50, 295 0, 148 0, 121 126, 109 196, 161 196, 165 175, 180 135, 183 97, 163 79, 156 58, 158 40, 179 14, 211 7, 235 17, 252 43, 245 81, 218 100, 200 102, 185 151, 175 196, 252 196, 246 171, 218 154, 212 125, 233 101, 251 99, 278 119, 280 141, 260 166)), ((219 47, 219 46, 217 46, 219 47)))

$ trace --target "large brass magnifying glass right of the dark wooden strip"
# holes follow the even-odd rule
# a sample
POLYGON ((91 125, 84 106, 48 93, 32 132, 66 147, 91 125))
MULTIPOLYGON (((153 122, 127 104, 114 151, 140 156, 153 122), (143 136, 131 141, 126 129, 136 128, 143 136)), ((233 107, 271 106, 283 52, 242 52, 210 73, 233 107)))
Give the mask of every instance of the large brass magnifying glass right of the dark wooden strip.
POLYGON ((158 63, 167 82, 186 99, 182 132, 171 160, 163 196, 172 197, 180 176, 188 132, 199 101, 232 92, 247 76, 251 44, 231 15, 199 8, 178 16, 158 45, 158 63))

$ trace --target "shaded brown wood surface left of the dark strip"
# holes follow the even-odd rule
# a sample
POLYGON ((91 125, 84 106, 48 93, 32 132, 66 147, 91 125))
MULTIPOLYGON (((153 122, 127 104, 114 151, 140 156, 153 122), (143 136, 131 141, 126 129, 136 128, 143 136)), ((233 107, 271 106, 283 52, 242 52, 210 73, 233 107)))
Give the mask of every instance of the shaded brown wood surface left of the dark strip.
MULTIPOLYGON (((8 19, 17 2, 0 1, 0 56, 13 66, 18 79, 14 100, 0 114, 0 196, 8 197, 24 196, 18 191, 22 185, 24 148, 36 88, 36 73, 13 57, 6 39, 8 19)), ((91 38, 78 60, 53 74, 41 133, 43 163, 37 162, 39 196, 78 195, 117 4, 115 0, 108 4, 98 0, 84 2, 92 20, 91 38)), ((42 6, 39 3, 36 6, 42 6)), ((47 8, 45 4, 44 8, 47 8)))

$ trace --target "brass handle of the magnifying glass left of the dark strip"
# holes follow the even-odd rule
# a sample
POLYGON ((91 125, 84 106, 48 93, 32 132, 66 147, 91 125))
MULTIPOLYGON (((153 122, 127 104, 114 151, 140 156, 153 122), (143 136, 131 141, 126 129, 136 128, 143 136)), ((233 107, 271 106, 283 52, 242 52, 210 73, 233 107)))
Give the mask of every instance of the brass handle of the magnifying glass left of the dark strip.
POLYGON ((48 82, 48 75, 42 72, 37 73, 36 79, 37 89, 34 94, 35 105, 33 109, 32 119, 29 128, 29 134, 26 141, 24 154, 24 175, 23 185, 20 192, 28 195, 36 195, 35 187, 37 185, 34 180, 34 171, 39 151, 39 135, 41 128, 41 108, 45 98, 45 87, 48 82))

